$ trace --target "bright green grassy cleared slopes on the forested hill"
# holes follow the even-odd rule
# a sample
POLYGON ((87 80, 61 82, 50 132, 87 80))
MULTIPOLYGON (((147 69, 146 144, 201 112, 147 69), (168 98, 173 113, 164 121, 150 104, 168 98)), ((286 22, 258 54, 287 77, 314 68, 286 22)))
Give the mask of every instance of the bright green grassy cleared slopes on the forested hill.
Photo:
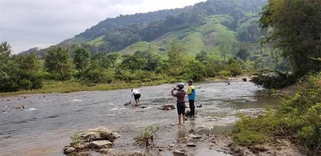
MULTIPOLYGON (((181 43, 185 52, 190 56, 195 56, 200 51, 207 51, 212 54, 221 55, 218 49, 220 43, 237 42, 235 32, 225 27, 221 23, 230 20, 228 15, 210 16, 204 19, 203 24, 194 29, 184 29, 175 32, 168 32, 156 38, 150 44, 148 42, 136 42, 120 51, 121 54, 133 53, 136 51, 146 51, 149 45, 151 52, 160 53, 168 51, 170 44, 175 40, 181 43)), ((99 40, 99 39, 95 39, 99 40)), ((231 52, 228 53, 230 55, 231 52)))

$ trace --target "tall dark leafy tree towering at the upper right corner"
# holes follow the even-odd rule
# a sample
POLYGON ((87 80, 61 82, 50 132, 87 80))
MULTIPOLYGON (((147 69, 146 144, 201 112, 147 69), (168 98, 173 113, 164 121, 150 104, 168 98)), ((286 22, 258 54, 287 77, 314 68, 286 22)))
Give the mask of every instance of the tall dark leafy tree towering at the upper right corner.
POLYGON ((321 70, 321 0, 268 0, 260 18, 271 30, 266 42, 279 48, 297 76, 321 70))

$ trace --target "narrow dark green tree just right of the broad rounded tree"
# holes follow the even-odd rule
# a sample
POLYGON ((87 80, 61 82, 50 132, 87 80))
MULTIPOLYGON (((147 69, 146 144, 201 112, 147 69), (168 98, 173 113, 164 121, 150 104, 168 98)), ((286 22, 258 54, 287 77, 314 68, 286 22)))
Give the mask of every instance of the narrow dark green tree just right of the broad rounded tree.
POLYGON ((77 47, 74 53, 75 58, 73 59, 73 63, 76 65, 78 73, 80 73, 80 70, 89 65, 90 53, 82 46, 77 47))

